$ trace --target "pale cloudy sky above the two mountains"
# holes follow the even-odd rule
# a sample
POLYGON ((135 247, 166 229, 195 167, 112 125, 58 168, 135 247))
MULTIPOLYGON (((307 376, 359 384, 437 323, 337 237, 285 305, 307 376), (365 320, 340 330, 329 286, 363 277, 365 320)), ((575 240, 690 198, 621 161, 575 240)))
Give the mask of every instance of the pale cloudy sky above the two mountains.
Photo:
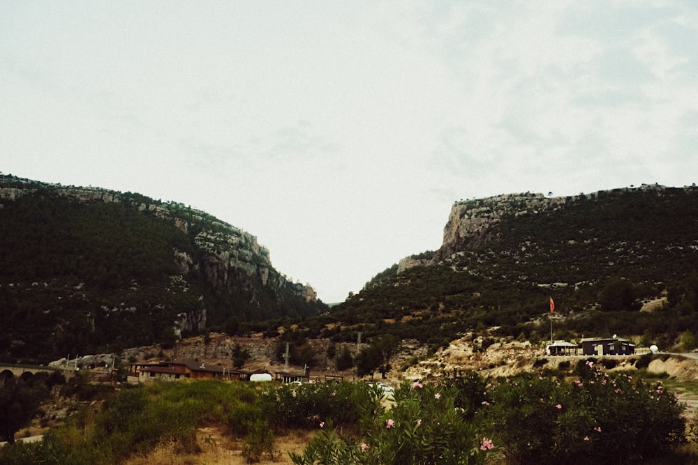
POLYGON ((341 302, 454 201, 698 182, 698 3, 0 0, 0 172, 257 236, 341 302))

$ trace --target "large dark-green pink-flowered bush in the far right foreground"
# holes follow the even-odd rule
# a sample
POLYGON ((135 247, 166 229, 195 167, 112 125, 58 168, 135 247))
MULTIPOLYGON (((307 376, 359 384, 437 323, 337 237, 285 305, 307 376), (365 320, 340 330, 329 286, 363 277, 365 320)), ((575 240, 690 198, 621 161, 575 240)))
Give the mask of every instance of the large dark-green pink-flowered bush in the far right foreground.
POLYGON ((591 361, 563 383, 534 374, 500 379, 485 409, 505 455, 520 464, 624 464, 685 441, 685 408, 661 383, 609 375, 591 361))

